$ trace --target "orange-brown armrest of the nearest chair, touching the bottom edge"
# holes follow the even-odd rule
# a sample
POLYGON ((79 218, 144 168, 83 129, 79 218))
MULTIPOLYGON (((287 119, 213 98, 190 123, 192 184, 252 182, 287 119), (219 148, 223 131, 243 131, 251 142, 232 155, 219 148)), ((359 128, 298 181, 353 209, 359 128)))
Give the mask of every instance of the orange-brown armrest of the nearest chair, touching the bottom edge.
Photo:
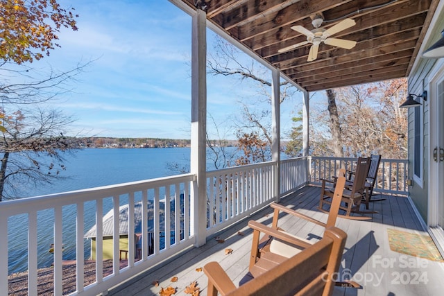
POLYGON ((203 266, 203 272, 208 277, 208 295, 217 295, 214 293, 214 288, 219 291, 221 295, 226 295, 230 293, 232 290, 236 290, 236 286, 234 286, 230 277, 228 277, 227 273, 221 265, 217 262, 209 262, 203 266))

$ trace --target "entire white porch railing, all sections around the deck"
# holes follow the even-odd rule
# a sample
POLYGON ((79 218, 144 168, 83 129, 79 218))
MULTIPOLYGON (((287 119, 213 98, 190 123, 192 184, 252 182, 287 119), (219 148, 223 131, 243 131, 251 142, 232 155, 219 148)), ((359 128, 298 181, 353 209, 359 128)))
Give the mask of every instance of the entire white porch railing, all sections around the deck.
MULTIPOLYGON (((327 157, 283 160, 279 165, 280 195, 296 191, 305 184, 318 184, 319 178, 332 177, 340 167, 352 169, 354 163, 354 159, 327 157)), ((196 186, 196 176, 191 174, 3 201, 0 202, 0 254, 8 257, 12 250, 19 249, 27 257, 28 295, 37 295, 37 259, 40 261, 44 256, 53 256, 53 294, 62 295, 62 256, 71 248, 75 250, 76 259, 76 288, 72 294, 96 295, 194 245, 198 234, 194 233, 193 225, 206 223, 207 231, 203 235, 210 236, 275 200, 276 168, 278 166, 274 162, 264 162, 207 172, 206 221, 195 220, 193 214, 196 211, 194 204, 198 202, 192 193, 195 191, 191 191, 196 186), (168 200, 170 202, 165 202, 168 200), (103 216, 106 211, 111 211, 113 233, 121 232, 121 206, 128 204, 127 217, 134 217, 136 202, 142 202, 142 221, 152 220, 149 229, 148 223, 142 223, 141 250, 137 250, 136 240, 129 239, 128 262, 122 267, 119 236, 114 236, 112 270, 104 270, 103 216), (67 215, 67 211, 71 214, 67 215), (46 220, 42 220, 43 216, 46 220), (21 228, 17 230, 15 226, 18 233, 11 233, 11 223, 17 221, 21 221, 21 228), (89 256, 89 241, 84 235, 94 225, 96 281, 87 285, 83 270, 89 256), (40 236, 42 228, 46 228, 49 235, 40 236), (153 252, 148 252, 151 246, 148 237, 153 237, 153 252), (51 243, 54 252, 49 255, 51 243), (136 261, 139 252, 142 258, 136 261)), ((407 162, 404 160, 383 159, 379 168, 378 191, 407 193, 406 170, 407 162)), ((128 238, 135 237, 135 220, 126 218, 126 222, 128 238)), ((0 261, 0 296, 8 295, 9 261, 0 261)))

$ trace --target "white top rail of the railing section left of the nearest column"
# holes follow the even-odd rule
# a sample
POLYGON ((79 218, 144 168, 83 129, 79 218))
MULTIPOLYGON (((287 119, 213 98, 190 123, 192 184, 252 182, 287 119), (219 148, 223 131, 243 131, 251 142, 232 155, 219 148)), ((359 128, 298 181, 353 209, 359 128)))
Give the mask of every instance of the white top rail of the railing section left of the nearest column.
POLYGON ((80 189, 63 193, 40 195, 32 198, 22 198, 19 200, 5 200, 0 202, 0 215, 12 216, 23 214, 27 212, 24 209, 33 209, 33 211, 40 211, 42 209, 49 209, 66 204, 86 202, 88 200, 94 200, 96 198, 122 195, 129 192, 142 191, 147 188, 167 186, 172 183, 190 182, 195 180, 195 178, 196 176, 190 173, 171 177, 160 177, 151 180, 113 184, 89 189, 80 189))

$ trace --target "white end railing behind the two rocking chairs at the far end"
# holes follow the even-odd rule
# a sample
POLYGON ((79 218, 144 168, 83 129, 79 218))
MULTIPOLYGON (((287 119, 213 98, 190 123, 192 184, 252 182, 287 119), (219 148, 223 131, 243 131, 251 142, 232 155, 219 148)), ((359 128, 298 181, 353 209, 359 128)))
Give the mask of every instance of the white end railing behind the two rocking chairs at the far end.
MULTIPOLYGON (((339 168, 354 171, 357 158, 310 157, 310 184, 321 184, 320 179, 332 180, 339 168)), ((375 192, 408 195, 407 159, 381 159, 375 183, 375 192)))

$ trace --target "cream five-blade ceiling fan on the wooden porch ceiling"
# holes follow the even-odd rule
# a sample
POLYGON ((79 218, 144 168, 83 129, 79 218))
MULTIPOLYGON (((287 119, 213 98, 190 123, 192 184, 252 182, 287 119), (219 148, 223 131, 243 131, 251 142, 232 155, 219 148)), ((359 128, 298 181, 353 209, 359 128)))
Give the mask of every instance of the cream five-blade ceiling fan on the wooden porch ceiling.
POLYGON ((319 28, 322 22, 323 18, 320 15, 316 15, 316 17, 314 17, 314 19, 311 21, 311 24, 313 24, 314 26, 314 29, 311 31, 309 31, 307 28, 304 28, 303 26, 292 26, 291 29, 307 36, 307 41, 287 46, 283 49, 278 50, 278 53, 291 51, 291 49, 296 49, 299 46, 304 46, 305 44, 311 43, 313 45, 311 45, 310 47, 307 58, 307 62, 311 62, 313 60, 316 60, 316 58, 318 57, 319 44, 321 44, 321 42, 332 46, 338 46, 343 49, 352 49, 353 47, 355 47, 356 41, 330 37, 333 34, 339 33, 345 29, 355 26, 356 22, 354 19, 343 19, 338 24, 327 29, 319 28))

